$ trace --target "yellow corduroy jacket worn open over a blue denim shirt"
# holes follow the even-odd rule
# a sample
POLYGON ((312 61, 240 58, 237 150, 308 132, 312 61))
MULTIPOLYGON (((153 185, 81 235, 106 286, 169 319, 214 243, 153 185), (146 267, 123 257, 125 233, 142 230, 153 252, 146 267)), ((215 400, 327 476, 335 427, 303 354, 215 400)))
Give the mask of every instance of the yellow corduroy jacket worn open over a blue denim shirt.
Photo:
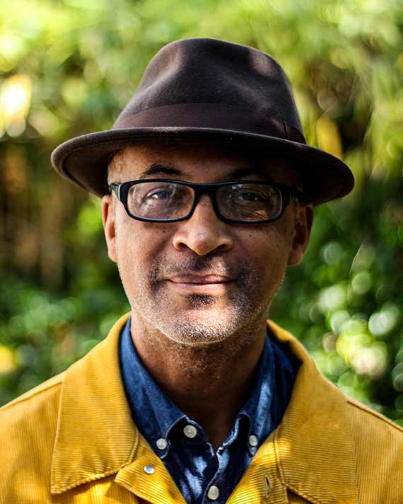
MULTIPOLYGON (((130 415, 118 358, 126 320, 0 409, 1 504, 185 503, 130 415)), ((269 324, 302 365, 281 425, 227 502, 403 504, 403 430, 344 396, 291 334, 269 324)))

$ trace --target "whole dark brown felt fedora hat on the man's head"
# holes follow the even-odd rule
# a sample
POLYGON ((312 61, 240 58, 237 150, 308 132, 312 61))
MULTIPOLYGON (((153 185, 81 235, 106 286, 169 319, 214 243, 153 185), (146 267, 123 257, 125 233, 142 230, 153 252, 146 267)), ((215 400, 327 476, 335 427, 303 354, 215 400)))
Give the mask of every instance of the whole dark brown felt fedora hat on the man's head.
POLYGON ((290 159, 314 203, 344 196, 354 186, 343 161, 306 144, 290 84, 276 60, 223 40, 184 39, 163 47, 112 130, 64 142, 52 152, 52 165, 103 196, 109 192, 110 156, 145 142, 209 143, 290 159))

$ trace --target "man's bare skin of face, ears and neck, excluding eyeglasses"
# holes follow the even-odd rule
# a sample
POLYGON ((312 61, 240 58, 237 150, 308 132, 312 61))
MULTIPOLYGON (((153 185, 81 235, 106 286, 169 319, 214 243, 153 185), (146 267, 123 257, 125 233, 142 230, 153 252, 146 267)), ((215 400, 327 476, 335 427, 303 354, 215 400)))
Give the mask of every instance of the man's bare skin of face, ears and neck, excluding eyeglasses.
MULTIPOLYGON (((269 180, 300 188, 280 159, 211 146, 127 147, 109 180, 175 178, 196 183, 269 180), (152 165, 167 167, 144 174, 152 165), (245 173, 235 170, 243 169, 245 173)), ((262 353, 269 307, 286 268, 308 245, 312 205, 288 205, 269 224, 228 224, 203 195, 183 222, 130 218, 115 196, 102 200, 107 250, 132 307, 132 339, 160 388, 202 425, 216 449, 243 406, 262 353)))

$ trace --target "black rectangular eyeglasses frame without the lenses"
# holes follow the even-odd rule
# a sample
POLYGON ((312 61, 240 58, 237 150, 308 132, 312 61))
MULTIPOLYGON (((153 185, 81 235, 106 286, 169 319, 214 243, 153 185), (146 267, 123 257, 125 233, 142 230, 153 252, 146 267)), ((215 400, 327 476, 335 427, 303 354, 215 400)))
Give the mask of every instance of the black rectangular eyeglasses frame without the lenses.
POLYGON ((216 213, 216 217, 223 222, 228 222, 229 224, 267 224, 268 222, 275 222, 280 219, 280 217, 284 214, 286 207, 290 203, 298 202, 298 191, 294 188, 289 187, 288 185, 271 183, 269 181, 228 181, 228 182, 216 182, 216 183, 194 183, 194 182, 185 182, 185 181, 177 181, 171 178, 140 178, 136 181, 128 181, 122 183, 110 183, 108 185, 111 193, 115 193, 117 199, 122 203, 124 210, 126 211, 129 217, 132 219, 136 219, 143 222, 160 222, 160 223, 168 223, 168 222, 182 222, 190 217, 194 212, 194 209, 197 207, 197 203, 199 202, 199 197, 203 194, 208 194, 210 196, 211 204, 213 205, 214 212, 216 213), (176 183, 180 185, 187 185, 187 187, 192 188, 194 190, 194 201, 193 205, 190 208, 189 212, 184 217, 178 217, 177 219, 150 219, 149 217, 138 217, 129 212, 129 208, 127 207, 127 195, 129 194, 129 189, 132 185, 137 185, 144 182, 168 182, 168 183, 176 183), (281 210, 279 214, 275 217, 271 217, 270 219, 263 220, 253 220, 253 221, 243 221, 239 219, 229 219, 228 217, 224 217, 221 212, 218 210, 218 205, 216 202, 216 190, 226 185, 233 184, 260 184, 260 185, 270 185, 271 187, 277 188, 281 194, 281 210))

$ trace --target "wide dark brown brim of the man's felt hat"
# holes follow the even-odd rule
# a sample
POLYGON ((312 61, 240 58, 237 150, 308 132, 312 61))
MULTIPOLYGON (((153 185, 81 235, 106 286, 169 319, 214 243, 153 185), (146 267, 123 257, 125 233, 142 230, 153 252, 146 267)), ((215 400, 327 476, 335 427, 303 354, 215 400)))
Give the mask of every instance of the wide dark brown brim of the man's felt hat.
POLYGON ((291 140, 235 130, 194 127, 139 127, 84 134, 67 140, 52 152, 52 165, 64 178, 102 197, 107 188, 107 163, 130 145, 214 144, 250 150, 253 156, 291 160, 303 180, 305 200, 319 204, 348 194, 354 176, 341 159, 291 140))

